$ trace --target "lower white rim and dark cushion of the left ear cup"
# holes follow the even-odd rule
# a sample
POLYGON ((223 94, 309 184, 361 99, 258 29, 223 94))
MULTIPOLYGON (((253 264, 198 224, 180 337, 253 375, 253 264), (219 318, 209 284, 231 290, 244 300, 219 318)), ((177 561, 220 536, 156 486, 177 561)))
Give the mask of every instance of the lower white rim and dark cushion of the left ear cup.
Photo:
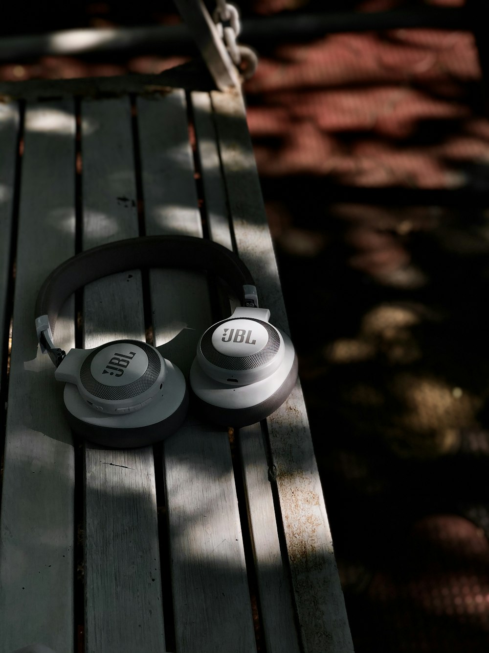
POLYGON ((65 385, 67 419, 74 433, 112 448, 145 447, 168 438, 181 426, 188 409, 185 378, 166 362, 166 379, 158 395, 144 407, 114 415, 91 407, 73 383, 65 385))

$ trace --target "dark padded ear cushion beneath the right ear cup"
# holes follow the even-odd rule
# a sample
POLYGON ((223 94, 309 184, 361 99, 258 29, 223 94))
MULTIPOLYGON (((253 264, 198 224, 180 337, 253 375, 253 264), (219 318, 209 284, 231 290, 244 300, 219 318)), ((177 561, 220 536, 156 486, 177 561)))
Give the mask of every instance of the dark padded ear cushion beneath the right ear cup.
MULTIPOLYGON (((243 408, 213 406, 212 404, 203 401, 195 394, 195 392, 192 392, 192 411, 198 411, 199 415, 203 415, 209 421, 214 422, 215 424, 221 424, 222 426, 234 426, 235 428, 240 428, 241 426, 255 424, 274 413, 279 406, 282 406, 295 386, 298 368, 299 364, 297 356, 294 356, 292 367, 282 385, 280 385, 273 394, 268 396, 262 402, 259 402, 259 404, 243 408)), ((233 392, 233 388, 227 387, 224 392, 233 392)))

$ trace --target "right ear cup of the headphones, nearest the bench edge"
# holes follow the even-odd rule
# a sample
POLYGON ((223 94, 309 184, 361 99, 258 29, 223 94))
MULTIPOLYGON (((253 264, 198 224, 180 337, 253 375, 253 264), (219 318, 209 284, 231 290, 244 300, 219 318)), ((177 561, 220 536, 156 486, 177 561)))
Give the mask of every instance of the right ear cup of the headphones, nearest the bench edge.
MULTIPOLYGON (((208 332, 217 332, 220 334, 221 340, 222 338, 226 340, 230 332, 229 330, 224 332, 224 328, 233 328, 225 326, 229 322, 218 323, 208 332)), ((268 323, 263 324, 271 327, 268 323)), ((243 326, 240 325, 239 329, 243 330, 243 326)), ((248 424, 254 424, 271 415, 289 396, 297 381, 297 356, 288 336, 278 332, 275 327, 271 328, 279 334, 280 343, 276 344, 274 334, 271 334, 269 338, 260 342, 259 349, 252 351, 249 357, 243 357, 243 355, 230 357, 229 350, 228 354, 221 354, 222 358, 220 358, 218 355, 209 353, 205 344, 206 334, 202 336, 198 348, 200 355, 198 353, 190 369, 190 386, 194 393, 192 400, 194 406, 209 421, 237 428, 248 426, 248 424), (204 347, 201 347, 202 341, 204 341, 204 347), (203 358, 214 367, 221 366, 221 370, 224 372, 224 381, 215 378, 217 374, 214 374, 215 371, 212 368, 213 375, 207 373, 209 365, 206 362, 201 364, 203 358), (211 358, 210 361, 209 358, 211 358), (231 358, 234 360, 230 360, 231 358), (233 369, 233 365, 241 369, 233 369), (263 374, 263 368, 267 370, 268 374, 263 374), (258 377, 256 381, 252 379, 254 370, 258 377), (243 378, 251 380, 248 383, 243 383, 243 378)), ((246 340, 248 328, 245 331, 244 340, 246 340)), ((237 340, 241 338, 241 335, 243 334, 239 333, 237 340)), ((231 336, 231 340, 233 338, 234 335, 231 336)), ((241 344, 244 343, 244 340, 241 344)), ((253 331, 248 340, 250 342, 256 340, 256 344, 258 344, 258 339, 254 338, 253 331)), ((216 338, 214 341, 216 342, 216 338)), ((243 353, 243 347, 238 349, 237 353, 243 353)), ((218 354, 220 354, 219 351, 218 354)))

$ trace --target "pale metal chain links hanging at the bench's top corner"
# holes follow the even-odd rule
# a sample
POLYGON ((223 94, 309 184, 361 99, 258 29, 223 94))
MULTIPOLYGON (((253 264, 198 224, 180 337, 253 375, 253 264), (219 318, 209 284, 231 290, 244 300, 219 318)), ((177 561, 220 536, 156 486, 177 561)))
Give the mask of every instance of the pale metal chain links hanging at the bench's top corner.
POLYGON ((258 57, 251 48, 237 44, 236 37, 241 32, 239 12, 234 5, 226 3, 226 0, 216 0, 216 5, 213 20, 218 34, 224 40, 234 65, 240 69, 245 80, 249 79, 256 71, 258 57))

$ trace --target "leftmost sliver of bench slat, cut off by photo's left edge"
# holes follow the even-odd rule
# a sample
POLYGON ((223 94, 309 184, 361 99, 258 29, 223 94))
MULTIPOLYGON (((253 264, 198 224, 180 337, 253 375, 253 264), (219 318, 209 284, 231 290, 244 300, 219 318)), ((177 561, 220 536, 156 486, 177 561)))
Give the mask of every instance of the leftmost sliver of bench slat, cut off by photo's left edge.
MULTIPOLYGON (((8 285, 12 278, 10 270, 10 238, 12 234, 12 210, 14 200, 14 177, 16 145, 19 124, 18 106, 14 103, 0 104, 0 333, 3 335, 7 313, 8 285)), ((10 312, 10 311, 8 311, 10 312)), ((6 343, 0 342, 0 372, 3 372, 3 353, 6 343)))

